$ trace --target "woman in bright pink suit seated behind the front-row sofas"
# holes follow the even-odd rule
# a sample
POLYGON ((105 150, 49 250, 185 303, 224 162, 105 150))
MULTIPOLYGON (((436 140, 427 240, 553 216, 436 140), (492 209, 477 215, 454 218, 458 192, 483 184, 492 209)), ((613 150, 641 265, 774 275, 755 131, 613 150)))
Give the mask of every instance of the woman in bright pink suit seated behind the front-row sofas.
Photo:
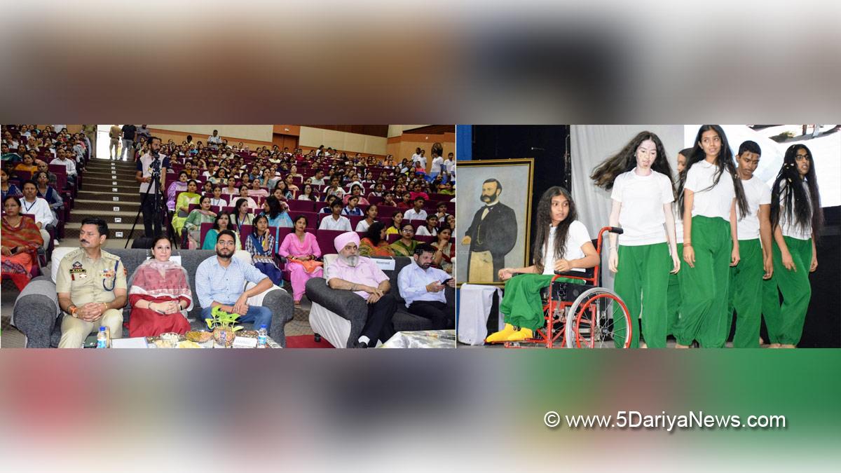
POLYGON ((310 278, 320 278, 324 274, 323 263, 315 261, 321 256, 321 248, 315 235, 308 233, 307 217, 299 215, 294 221, 295 231, 283 238, 278 254, 287 259, 289 279, 292 280, 292 295, 295 306, 301 305, 301 296, 310 278))

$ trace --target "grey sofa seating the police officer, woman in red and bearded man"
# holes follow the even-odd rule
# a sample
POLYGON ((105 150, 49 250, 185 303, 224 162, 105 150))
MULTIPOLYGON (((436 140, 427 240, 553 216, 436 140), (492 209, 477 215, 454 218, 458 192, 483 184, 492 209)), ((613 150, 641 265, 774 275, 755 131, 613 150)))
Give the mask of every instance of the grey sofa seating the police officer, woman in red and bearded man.
MULTIPOLYGON (((149 250, 144 249, 113 249, 107 248, 123 260, 129 277, 134 274, 135 269, 146 259, 149 250)), ((202 319, 202 308, 196 298, 196 281, 193 276, 196 274, 198 264, 205 259, 214 256, 211 250, 182 250, 174 251, 173 254, 181 255, 181 264, 187 269, 190 275, 190 289, 193 290, 193 310, 188 312, 188 317, 195 319, 191 322, 193 329, 207 329, 207 324, 202 319)), ((54 261, 53 264, 58 264, 54 261)), ((292 296, 285 290, 269 290, 263 298, 263 306, 272 310, 272 328, 269 334, 272 339, 281 346, 286 347, 286 335, 283 326, 292 320, 293 302, 292 296)), ((40 276, 33 279, 24 288, 14 303, 13 320, 14 325, 27 337, 27 348, 55 348, 61 339, 61 316, 58 313, 56 302, 56 284, 50 276, 40 276)), ((128 322, 131 316, 131 309, 128 305, 123 309, 123 321, 128 322)), ((247 328, 248 324, 246 324, 247 328)), ((123 329, 123 337, 128 337, 129 331, 123 329)))

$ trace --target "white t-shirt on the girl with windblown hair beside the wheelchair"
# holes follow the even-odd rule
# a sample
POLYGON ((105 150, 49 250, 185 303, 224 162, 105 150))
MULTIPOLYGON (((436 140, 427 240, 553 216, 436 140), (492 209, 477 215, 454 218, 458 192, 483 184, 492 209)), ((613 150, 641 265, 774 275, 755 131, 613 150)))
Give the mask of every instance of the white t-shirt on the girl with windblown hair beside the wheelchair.
POLYGON ((665 174, 652 171, 640 176, 634 167, 613 181, 611 199, 621 203, 619 226, 624 232, 619 244, 638 247, 666 242, 663 205, 674 202, 672 183, 665 174))

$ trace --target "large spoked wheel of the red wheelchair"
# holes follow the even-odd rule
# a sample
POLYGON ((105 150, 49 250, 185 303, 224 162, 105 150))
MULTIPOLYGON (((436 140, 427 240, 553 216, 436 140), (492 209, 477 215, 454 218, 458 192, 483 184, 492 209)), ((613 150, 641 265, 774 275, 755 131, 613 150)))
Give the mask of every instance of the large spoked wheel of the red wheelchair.
POLYGON ((586 290, 567 311, 568 348, 628 348, 631 345, 631 317, 627 306, 612 290, 586 290), (616 328, 617 317, 625 320, 616 328))

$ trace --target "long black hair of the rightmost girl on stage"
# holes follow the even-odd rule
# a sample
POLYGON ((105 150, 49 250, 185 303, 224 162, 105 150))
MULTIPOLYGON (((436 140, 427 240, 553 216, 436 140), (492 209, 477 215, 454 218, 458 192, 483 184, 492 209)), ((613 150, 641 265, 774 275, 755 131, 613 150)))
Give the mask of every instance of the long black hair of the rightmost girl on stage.
POLYGON ((780 225, 780 203, 785 207, 785 221, 788 221, 789 225, 805 229, 811 223, 812 235, 818 235, 823 225, 821 195, 817 189, 815 161, 812 159, 812 151, 809 151, 806 145, 791 145, 785 150, 783 166, 780 167, 780 173, 777 174, 774 187, 771 188, 771 230, 780 225), (805 150, 809 159, 809 172, 802 181, 796 162, 799 150, 805 150), (797 185, 801 182, 806 183, 808 195, 803 186, 797 185))

